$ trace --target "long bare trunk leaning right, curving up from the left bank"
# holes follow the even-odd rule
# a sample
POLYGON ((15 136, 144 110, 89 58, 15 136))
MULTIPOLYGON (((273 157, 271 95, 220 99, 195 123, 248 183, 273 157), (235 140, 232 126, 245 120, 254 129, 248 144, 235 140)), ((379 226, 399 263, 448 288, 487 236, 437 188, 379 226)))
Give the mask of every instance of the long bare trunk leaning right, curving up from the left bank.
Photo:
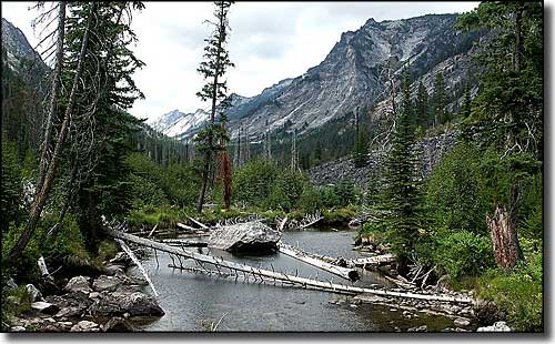
MULTIPOLYGON (((91 8, 94 8, 94 2, 91 6, 91 8)), ((84 31, 83 40, 81 42, 81 51, 79 53, 79 60, 78 60, 78 65, 75 70, 75 75, 73 78, 73 84, 71 87, 71 92, 68 99, 68 105, 65 108, 64 117, 63 117, 63 122, 60 128, 60 132, 58 134, 58 140, 56 142, 54 146, 54 152, 52 154, 52 158, 50 160, 50 164, 48 166, 47 174, 44 176, 44 182, 42 188, 37 192, 33 202, 31 204, 31 210, 29 212, 29 220, 27 222, 27 227, 21 233, 19 236, 16 245, 12 247, 7 265, 10 266, 16 259, 19 257, 19 255, 23 252, 26 249, 27 244, 29 243, 29 240, 31 239, 32 233, 34 232, 34 229, 37 227, 37 223, 39 222, 39 219, 42 214, 42 210, 44 209, 44 204, 47 202, 48 195, 50 193, 50 189, 52 188, 54 178, 56 178, 56 170, 58 168, 58 162, 60 159, 60 154, 62 151, 62 145, 65 141, 65 136, 68 133, 68 128, 71 121, 71 113, 73 110, 73 104, 75 102, 75 95, 77 95, 77 89, 79 88, 79 80, 81 79, 81 73, 83 70, 83 60, 84 55, 87 52, 87 44, 89 41, 89 32, 90 32, 90 27, 91 27, 91 18, 92 18, 92 11, 89 12, 89 18, 87 21, 87 29, 84 31)))

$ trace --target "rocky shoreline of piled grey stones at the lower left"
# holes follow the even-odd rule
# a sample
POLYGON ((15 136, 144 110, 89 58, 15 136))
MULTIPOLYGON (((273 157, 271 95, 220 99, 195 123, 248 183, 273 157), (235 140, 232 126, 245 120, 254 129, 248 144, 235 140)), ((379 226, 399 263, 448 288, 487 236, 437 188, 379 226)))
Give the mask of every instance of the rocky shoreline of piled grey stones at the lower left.
MULTIPOLYGON (((73 276, 58 293, 42 296, 27 285, 31 310, 9 321, 10 332, 135 332, 139 322, 164 315, 148 284, 129 274, 130 259, 120 252, 98 277, 73 276)), ((6 289, 14 289, 11 281, 6 289)), ((11 297, 11 296, 9 296, 11 297)))

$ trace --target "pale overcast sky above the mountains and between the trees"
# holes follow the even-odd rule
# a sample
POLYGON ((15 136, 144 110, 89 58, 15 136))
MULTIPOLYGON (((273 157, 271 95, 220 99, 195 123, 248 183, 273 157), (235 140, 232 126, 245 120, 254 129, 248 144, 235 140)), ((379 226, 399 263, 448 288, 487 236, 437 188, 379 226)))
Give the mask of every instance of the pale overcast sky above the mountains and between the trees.
MULTIPOLYGON (((31 28, 32 2, 2 1, 2 17, 19 27, 31 44, 39 39, 31 28)), ((344 31, 364 22, 411 18, 427 13, 466 12, 477 2, 236 2, 232 6, 228 73, 231 92, 252 97, 282 79, 297 77, 319 64, 344 31)), ((203 84, 196 68, 210 28, 211 2, 145 2, 133 28, 134 48, 145 67, 134 79, 147 97, 131 113, 157 118, 174 109, 192 112, 208 108, 196 97, 203 84)), ((34 44, 33 44, 34 45, 34 44)))

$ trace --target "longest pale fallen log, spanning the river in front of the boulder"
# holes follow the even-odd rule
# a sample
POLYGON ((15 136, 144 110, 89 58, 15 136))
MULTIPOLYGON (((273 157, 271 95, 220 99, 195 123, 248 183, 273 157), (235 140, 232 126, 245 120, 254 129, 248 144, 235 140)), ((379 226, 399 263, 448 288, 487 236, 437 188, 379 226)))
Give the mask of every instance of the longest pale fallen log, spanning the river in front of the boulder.
MULTIPOLYGON (((322 290, 326 291, 330 293, 337 293, 337 294, 351 294, 351 295, 356 295, 356 294, 362 294, 362 293, 369 293, 369 294, 375 294, 375 295, 381 295, 381 296, 395 296, 395 297, 407 297, 407 299, 416 299, 416 300, 427 300, 427 301, 440 301, 440 302, 456 302, 456 303, 473 303, 473 299, 467 297, 467 296, 447 296, 447 295, 428 295, 428 294, 417 294, 417 293, 412 293, 412 292, 393 292, 393 291, 385 291, 385 290, 375 290, 375 289, 367 289, 367 287, 357 287, 357 286, 350 286, 350 285, 344 285, 344 284, 336 284, 330 282, 324 282, 324 281, 317 281, 317 280, 311 280, 306 277, 300 277, 296 275, 289 275, 282 272, 275 272, 275 271, 269 271, 264 269, 258 269, 244 264, 239 264, 230 261, 225 261, 223 259, 218 259, 211 255, 204 255, 195 252, 188 251, 185 249, 176 249, 172 247, 170 245, 159 243, 152 240, 139 237, 132 234, 123 233, 120 231, 114 231, 107 229, 105 233, 112 237, 129 241, 142 246, 151 247, 154 250, 159 250, 162 252, 170 253, 171 255, 178 256, 178 257, 185 257, 185 259, 192 259, 195 263, 199 265, 203 266, 205 263, 214 265, 218 271, 220 272, 221 269, 226 269, 230 274, 235 274, 239 275, 240 273, 243 273, 244 275, 246 274, 252 274, 255 280, 260 279, 260 283, 263 283, 264 281, 273 281, 275 282, 281 282, 281 283, 289 283, 292 285, 301 286, 304 289, 316 289, 316 290, 322 290)), ((175 264, 174 264, 175 265, 175 264)))

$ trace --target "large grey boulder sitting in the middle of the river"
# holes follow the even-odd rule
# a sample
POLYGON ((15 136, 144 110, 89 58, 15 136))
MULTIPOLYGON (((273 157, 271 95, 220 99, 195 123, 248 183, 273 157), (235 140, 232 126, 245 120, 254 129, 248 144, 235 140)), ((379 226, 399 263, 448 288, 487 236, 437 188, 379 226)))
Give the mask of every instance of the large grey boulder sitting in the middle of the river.
POLYGON ((212 230, 209 247, 232 253, 265 254, 278 251, 281 233, 260 221, 238 223, 212 230))

